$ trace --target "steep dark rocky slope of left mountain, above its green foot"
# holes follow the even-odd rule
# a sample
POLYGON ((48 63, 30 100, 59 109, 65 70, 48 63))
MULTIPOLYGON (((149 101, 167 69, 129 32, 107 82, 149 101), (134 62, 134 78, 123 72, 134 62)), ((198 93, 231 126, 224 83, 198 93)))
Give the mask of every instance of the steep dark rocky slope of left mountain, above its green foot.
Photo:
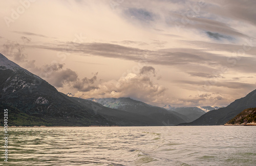
POLYGON ((54 126, 115 125, 0 54, 0 102, 54 126))

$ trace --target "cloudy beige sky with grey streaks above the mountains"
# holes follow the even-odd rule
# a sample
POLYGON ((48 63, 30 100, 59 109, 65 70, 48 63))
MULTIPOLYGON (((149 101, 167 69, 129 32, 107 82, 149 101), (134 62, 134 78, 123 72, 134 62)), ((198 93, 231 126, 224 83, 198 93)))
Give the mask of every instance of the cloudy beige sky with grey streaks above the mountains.
POLYGON ((256 89, 253 0, 0 6, 0 52, 75 97, 226 106, 256 89))

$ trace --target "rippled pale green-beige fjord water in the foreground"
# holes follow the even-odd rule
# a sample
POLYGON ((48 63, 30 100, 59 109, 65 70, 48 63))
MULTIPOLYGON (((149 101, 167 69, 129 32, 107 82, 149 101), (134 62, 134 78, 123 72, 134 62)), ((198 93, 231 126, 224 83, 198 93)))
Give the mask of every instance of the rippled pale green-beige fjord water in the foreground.
POLYGON ((245 166, 255 143, 254 126, 12 127, 0 165, 245 166))

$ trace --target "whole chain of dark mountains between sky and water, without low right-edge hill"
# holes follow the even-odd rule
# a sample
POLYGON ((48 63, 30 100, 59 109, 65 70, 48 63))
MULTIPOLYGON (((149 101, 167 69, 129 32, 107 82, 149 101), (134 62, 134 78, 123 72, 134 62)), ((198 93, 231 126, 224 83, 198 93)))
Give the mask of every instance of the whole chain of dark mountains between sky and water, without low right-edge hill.
POLYGON ((0 78, 0 107, 12 111, 13 125, 224 125, 244 109, 256 107, 256 90, 225 108, 169 105, 161 108, 131 98, 69 97, 2 54, 0 78))

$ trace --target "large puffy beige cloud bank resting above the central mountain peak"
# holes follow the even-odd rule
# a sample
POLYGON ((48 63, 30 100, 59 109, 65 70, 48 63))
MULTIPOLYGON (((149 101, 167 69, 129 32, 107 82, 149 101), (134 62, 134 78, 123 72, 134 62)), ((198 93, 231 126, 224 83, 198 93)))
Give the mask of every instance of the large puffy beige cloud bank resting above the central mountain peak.
MULTIPOLYGON (((82 98, 131 97, 144 102, 152 102, 158 100, 158 98, 162 98, 166 88, 154 83, 150 75, 148 75, 148 72, 154 71, 154 67, 144 67, 143 71, 139 75, 130 73, 121 77, 119 80, 101 82, 97 85, 97 88, 89 87, 88 90, 77 92, 75 95, 82 98)), ((94 79, 91 82, 89 80, 83 85, 88 87, 95 81, 94 79)))

